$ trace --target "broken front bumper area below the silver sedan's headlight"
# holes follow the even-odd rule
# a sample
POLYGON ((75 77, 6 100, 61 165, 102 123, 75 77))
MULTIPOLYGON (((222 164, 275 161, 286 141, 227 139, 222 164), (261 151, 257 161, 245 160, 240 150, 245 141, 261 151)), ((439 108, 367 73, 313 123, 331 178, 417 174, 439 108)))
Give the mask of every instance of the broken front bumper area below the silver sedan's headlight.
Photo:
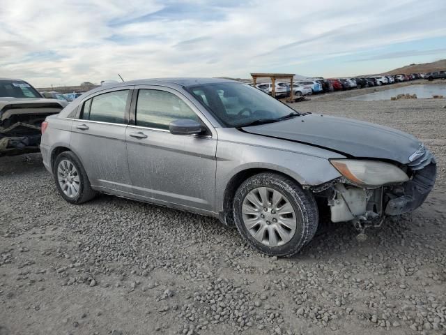
POLYGON ((432 156, 427 165, 410 170, 411 177, 403 184, 367 189, 341 179, 325 191, 328 192, 331 221, 380 221, 385 216, 413 211, 432 191, 436 171, 436 161, 432 156))

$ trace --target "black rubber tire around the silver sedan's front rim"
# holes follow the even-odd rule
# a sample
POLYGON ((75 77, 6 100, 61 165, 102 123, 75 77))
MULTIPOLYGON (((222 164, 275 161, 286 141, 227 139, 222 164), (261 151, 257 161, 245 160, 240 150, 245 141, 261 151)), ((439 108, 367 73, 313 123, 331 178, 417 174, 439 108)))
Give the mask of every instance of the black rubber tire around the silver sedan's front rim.
POLYGON ((248 243, 262 253, 274 256, 291 256, 312 240, 318 229, 318 207, 311 192, 303 190, 293 179, 282 174, 263 172, 249 177, 239 186, 233 201, 233 216, 238 232, 248 243), (242 205, 246 195, 259 187, 268 187, 282 193, 300 216, 293 237, 281 246, 267 246, 257 241, 243 221, 242 205))

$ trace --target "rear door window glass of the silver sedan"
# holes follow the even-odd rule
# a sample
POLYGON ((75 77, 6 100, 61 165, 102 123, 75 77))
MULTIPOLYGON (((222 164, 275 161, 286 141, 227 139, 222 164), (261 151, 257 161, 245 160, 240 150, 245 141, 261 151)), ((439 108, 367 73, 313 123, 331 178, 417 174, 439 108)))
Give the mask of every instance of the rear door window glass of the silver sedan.
POLYGON ((123 124, 129 90, 95 96, 84 103, 81 119, 123 124))

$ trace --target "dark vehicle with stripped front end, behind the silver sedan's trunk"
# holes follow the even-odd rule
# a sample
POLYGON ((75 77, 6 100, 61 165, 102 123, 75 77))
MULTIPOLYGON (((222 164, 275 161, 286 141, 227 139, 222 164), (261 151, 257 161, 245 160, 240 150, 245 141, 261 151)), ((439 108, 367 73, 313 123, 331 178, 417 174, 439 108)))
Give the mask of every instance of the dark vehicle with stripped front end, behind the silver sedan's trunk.
POLYGON ((43 98, 24 80, 0 78, 0 156, 39 151, 40 125, 66 105, 43 98))

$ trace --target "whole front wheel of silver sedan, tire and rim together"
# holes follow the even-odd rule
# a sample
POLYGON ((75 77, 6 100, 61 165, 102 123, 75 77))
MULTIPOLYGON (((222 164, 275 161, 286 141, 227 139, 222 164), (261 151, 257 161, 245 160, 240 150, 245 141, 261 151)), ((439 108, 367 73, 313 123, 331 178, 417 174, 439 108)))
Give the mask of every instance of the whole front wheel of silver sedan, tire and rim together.
POLYGON ((267 255, 294 255, 318 228, 312 193, 293 179, 270 172, 249 177, 240 185, 233 214, 238 232, 267 255))

